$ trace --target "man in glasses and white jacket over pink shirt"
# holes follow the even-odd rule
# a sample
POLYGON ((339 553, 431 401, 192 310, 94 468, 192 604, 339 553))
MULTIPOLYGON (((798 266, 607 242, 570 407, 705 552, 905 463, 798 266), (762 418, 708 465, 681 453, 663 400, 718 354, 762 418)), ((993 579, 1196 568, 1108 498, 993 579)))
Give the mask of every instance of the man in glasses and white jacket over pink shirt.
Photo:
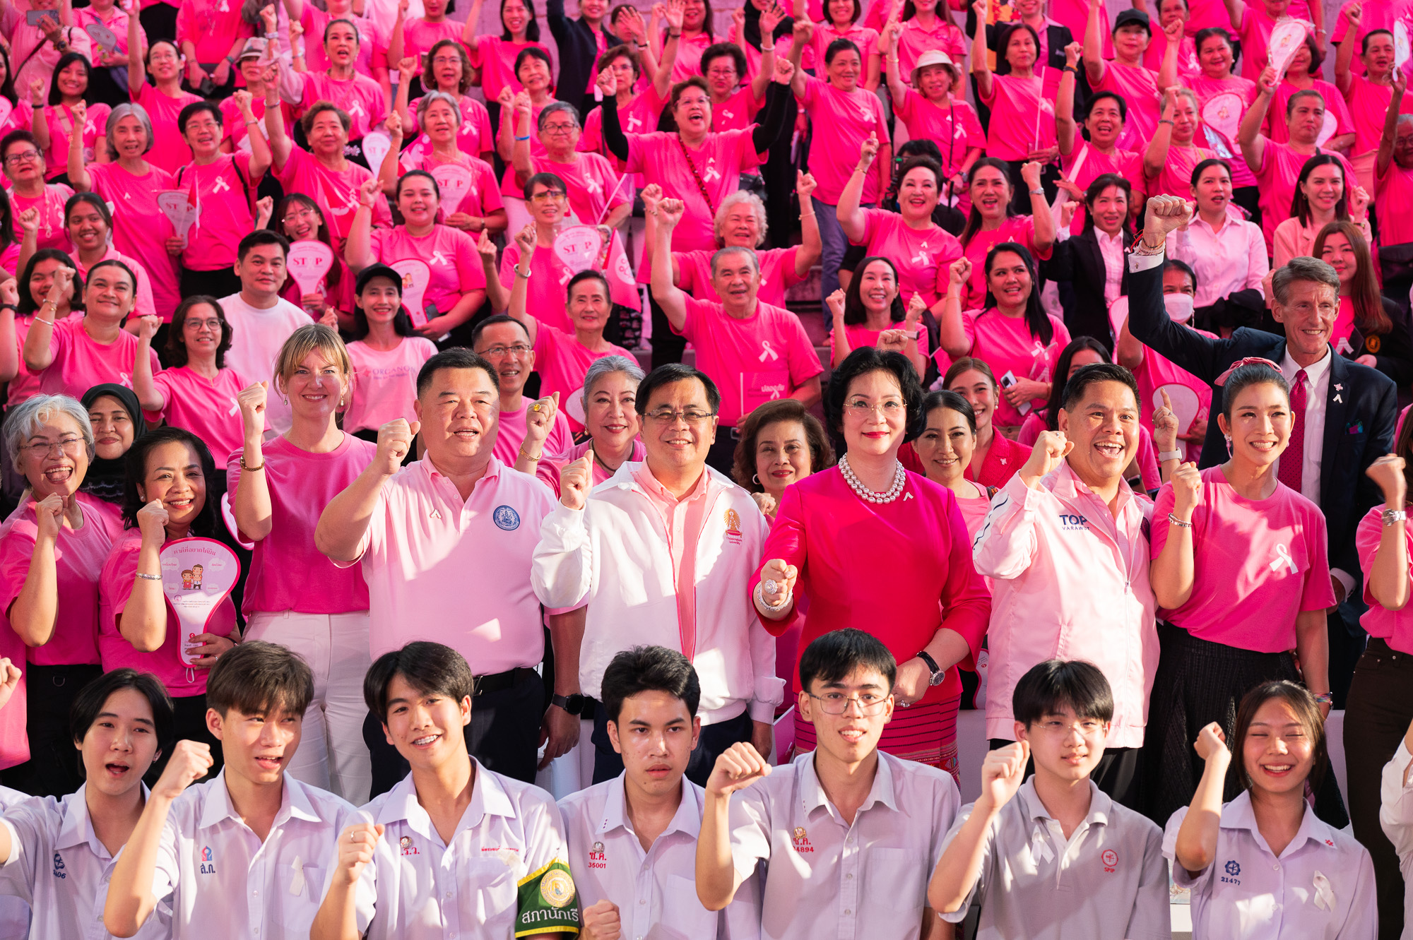
MULTIPOLYGON (((660 366, 637 388, 647 459, 623 463, 589 493, 592 454, 561 470, 560 505, 540 526, 531 583, 540 601, 588 604, 577 649, 555 648, 561 677, 599 697, 603 669, 637 645, 682 652, 702 687, 702 733, 687 779, 705 783, 716 755, 738 741, 770 752, 784 687, 776 641, 760 625, 747 584, 769 525, 750 494, 706 466, 721 395, 690 366, 660 366)), ((571 713, 578 701, 567 696, 571 713)), ((595 710, 593 782, 623 772, 608 718, 595 710)))

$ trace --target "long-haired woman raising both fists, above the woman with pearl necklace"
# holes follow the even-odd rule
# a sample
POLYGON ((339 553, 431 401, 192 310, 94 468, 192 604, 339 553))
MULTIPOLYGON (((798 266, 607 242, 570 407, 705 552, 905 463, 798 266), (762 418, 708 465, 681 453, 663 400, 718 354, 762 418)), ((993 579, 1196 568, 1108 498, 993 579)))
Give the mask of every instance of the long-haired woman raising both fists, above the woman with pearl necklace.
POLYGON ((903 303, 893 261, 873 255, 859 261, 848 291, 824 298, 829 311, 829 364, 838 366, 861 346, 892 349, 907 356, 918 380, 927 373, 927 329, 923 299, 914 294, 903 303), (906 308, 906 309, 904 309, 906 308))

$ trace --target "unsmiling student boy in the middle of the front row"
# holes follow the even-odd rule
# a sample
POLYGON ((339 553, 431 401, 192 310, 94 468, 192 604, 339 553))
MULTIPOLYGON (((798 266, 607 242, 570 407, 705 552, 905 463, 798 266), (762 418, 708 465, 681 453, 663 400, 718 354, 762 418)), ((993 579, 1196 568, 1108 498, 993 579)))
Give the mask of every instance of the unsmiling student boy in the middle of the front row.
POLYGON ((610 781, 560 800, 569 868, 584 916, 581 940, 755 939, 755 879, 721 912, 692 882, 705 792, 687 764, 701 733, 701 683, 691 661, 666 646, 634 646, 603 670, 609 741, 623 758, 610 781))

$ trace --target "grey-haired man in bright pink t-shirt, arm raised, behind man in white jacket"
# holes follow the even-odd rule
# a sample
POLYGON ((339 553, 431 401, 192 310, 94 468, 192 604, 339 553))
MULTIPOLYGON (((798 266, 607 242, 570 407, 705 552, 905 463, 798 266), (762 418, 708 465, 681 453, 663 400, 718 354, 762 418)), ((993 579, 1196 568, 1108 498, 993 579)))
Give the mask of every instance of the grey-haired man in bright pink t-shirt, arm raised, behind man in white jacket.
POLYGON ((673 229, 681 217, 680 199, 658 203, 653 299, 673 330, 697 349, 697 367, 722 390, 719 429, 706 463, 731 473, 736 423, 756 405, 776 398, 814 405, 821 397, 824 367, 800 319, 757 298, 760 261, 755 250, 732 246, 712 255, 711 284, 721 302, 698 301, 673 284, 673 229))

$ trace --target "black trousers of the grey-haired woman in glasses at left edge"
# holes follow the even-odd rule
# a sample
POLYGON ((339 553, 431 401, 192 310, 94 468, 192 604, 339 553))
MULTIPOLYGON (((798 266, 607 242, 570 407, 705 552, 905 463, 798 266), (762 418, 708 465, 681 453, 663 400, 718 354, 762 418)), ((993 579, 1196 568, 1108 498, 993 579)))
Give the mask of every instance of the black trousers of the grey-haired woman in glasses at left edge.
POLYGON ((73 747, 69 709, 88 683, 103 675, 99 665, 37 666, 27 663, 30 759, 4 773, 6 786, 32 796, 64 796, 79 789, 83 759, 73 747))

